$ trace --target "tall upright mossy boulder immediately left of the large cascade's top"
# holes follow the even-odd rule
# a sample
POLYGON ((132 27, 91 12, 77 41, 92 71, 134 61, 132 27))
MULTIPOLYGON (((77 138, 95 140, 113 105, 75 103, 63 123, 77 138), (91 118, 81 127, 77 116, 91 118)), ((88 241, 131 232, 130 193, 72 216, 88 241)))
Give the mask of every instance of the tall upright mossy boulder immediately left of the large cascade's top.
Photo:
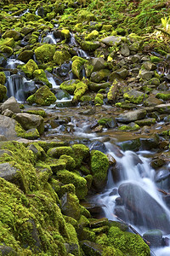
POLYGON ((99 191, 105 188, 108 168, 109 160, 107 156, 98 150, 92 150, 91 172, 94 177, 94 187, 99 191))

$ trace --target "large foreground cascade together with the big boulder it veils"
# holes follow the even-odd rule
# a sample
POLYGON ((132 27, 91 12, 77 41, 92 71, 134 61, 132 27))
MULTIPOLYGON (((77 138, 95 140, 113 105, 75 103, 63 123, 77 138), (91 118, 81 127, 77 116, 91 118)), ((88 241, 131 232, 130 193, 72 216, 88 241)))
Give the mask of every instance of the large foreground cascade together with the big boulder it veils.
MULTIPOLYGON (((170 234, 170 211, 156 189, 155 171, 150 168, 149 160, 132 151, 116 154, 111 149, 111 143, 105 143, 105 146, 116 160, 119 182, 111 182, 109 172, 105 191, 95 195, 92 202, 105 206, 103 211, 106 218, 116 220, 116 214, 127 223, 133 224, 140 234, 150 229, 170 234), (116 198, 120 196, 123 201, 121 207, 116 204, 116 198)), ((157 249, 156 253, 159 256, 170 255, 170 247, 157 249)))

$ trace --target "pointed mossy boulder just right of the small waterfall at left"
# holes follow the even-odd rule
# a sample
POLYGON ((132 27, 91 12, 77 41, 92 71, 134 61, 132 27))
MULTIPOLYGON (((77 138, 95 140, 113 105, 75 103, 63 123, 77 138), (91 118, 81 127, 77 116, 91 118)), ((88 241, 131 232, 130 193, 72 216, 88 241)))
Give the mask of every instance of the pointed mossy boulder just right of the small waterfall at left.
POLYGON ((36 103, 40 106, 49 106, 56 101, 54 93, 49 90, 47 85, 42 86, 33 95, 29 96, 26 101, 30 104, 36 103))

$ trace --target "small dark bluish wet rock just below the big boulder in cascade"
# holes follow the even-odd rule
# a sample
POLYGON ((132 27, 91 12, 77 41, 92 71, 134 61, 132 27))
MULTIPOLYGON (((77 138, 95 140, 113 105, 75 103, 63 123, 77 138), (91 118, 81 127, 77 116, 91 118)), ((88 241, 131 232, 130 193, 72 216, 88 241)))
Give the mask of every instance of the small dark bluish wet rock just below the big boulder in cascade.
POLYGON ((150 247, 162 246, 162 233, 161 230, 149 230, 144 233, 144 239, 150 241, 150 247))

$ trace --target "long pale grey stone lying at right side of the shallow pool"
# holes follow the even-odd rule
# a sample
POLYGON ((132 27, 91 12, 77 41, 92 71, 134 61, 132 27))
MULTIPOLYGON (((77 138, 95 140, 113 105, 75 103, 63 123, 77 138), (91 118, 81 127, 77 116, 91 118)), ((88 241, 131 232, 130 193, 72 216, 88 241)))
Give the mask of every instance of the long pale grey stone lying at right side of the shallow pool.
POLYGON ((121 113, 117 120, 121 123, 130 123, 139 119, 144 119, 146 115, 146 110, 137 109, 134 111, 129 111, 127 113, 121 113))

